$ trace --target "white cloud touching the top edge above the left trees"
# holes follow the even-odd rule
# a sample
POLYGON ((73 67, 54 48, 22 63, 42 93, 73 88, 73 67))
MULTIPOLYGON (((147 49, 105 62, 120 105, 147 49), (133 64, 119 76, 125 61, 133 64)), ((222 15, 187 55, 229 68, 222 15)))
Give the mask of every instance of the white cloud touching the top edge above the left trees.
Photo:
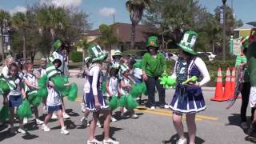
POLYGON ((42 0, 42 3, 45 3, 46 5, 54 5, 54 6, 64 6, 64 7, 70 7, 70 6, 80 6, 82 3, 82 0, 42 0))

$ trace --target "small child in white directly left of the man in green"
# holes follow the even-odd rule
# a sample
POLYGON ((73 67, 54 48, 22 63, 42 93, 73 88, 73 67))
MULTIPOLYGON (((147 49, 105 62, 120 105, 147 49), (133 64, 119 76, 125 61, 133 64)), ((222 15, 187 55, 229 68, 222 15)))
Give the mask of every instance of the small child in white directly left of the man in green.
MULTIPOLYGON (((132 85, 130 84, 133 82, 130 80, 130 68, 126 64, 120 65, 120 70, 122 73, 122 78, 120 79, 120 94, 122 96, 130 94, 130 90, 132 85)), ((125 106, 121 106, 121 117, 125 118, 125 111, 124 111, 125 106)), ((137 114, 134 114, 134 110, 130 110, 130 118, 138 118, 137 114)))

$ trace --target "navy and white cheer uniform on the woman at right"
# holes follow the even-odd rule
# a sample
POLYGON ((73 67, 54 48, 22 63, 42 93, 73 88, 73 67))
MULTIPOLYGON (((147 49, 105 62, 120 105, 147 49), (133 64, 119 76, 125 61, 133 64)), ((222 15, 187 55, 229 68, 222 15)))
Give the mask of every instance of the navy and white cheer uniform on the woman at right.
POLYGON ((187 61, 184 58, 178 58, 174 66, 172 78, 177 78, 177 87, 174 97, 170 102, 170 109, 181 113, 191 114, 198 113, 206 109, 206 103, 202 95, 201 86, 210 81, 210 75, 206 68, 205 62, 201 58, 193 58, 187 61), (182 86, 186 79, 196 76, 202 79, 197 87, 182 86))

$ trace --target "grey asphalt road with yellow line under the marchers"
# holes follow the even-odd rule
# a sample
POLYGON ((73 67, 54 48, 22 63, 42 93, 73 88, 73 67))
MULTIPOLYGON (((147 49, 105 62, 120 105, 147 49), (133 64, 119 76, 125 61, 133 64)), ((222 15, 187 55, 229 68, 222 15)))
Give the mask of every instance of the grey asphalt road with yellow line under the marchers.
MULTIPOLYGON (((0 126, 1 144, 70 144, 86 143, 89 135, 89 128, 81 125, 82 111, 80 102, 82 101, 81 78, 70 78, 71 82, 78 84, 78 99, 76 102, 66 100, 66 112, 71 118, 66 119, 65 124, 70 131, 69 135, 60 134, 58 121, 49 123, 50 132, 41 130, 41 126, 36 126, 34 118, 30 118, 26 124, 27 134, 10 135, 7 126, 0 126)), ((207 109, 197 115, 197 138, 196 143, 201 144, 246 144, 246 134, 239 126, 239 107, 241 100, 235 103, 234 107, 226 110, 227 102, 212 102, 210 98, 214 95, 213 89, 203 90, 206 99, 207 109)), ((166 102, 170 102, 174 90, 166 91, 166 102)), ((146 98, 146 97, 143 97, 146 98)), ((158 98, 157 98, 158 100, 158 98)), ((2 98, 0 98, 2 102, 2 98)), ((42 114, 42 106, 39 107, 42 114)), ((175 143, 178 135, 174 130, 171 120, 171 111, 164 109, 148 110, 144 106, 139 106, 136 110, 138 119, 120 119, 118 122, 110 124, 111 138, 123 144, 161 144, 175 143)), ((249 114, 248 110, 248 114, 249 114)), ((118 114, 115 114, 118 117, 118 114)), ((42 117, 44 118, 44 117, 42 117)), ((185 121, 183 121, 185 122, 185 121)), ((18 126, 18 123, 15 124, 18 126)), ((185 124, 186 129, 186 124, 185 124)), ((187 130, 185 130, 187 131, 187 130)), ((102 128, 97 128, 95 136, 102 140, 102 128)))

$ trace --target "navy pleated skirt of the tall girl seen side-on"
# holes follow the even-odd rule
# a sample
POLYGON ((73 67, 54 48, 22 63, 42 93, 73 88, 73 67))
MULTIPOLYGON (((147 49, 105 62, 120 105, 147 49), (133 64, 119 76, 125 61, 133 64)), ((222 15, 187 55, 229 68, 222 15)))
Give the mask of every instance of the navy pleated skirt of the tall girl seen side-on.
MULTIPOLYGON (((86 93, 86 109, 90 111, 97 111, 95 107, 94 94, 90 90, 90 93, 86 93)), ((98 102, 102 105, 99 110, 108 109, 109 106, 106 104, 105 99, 103 98, 102 91, 98 90, 98 102)))

